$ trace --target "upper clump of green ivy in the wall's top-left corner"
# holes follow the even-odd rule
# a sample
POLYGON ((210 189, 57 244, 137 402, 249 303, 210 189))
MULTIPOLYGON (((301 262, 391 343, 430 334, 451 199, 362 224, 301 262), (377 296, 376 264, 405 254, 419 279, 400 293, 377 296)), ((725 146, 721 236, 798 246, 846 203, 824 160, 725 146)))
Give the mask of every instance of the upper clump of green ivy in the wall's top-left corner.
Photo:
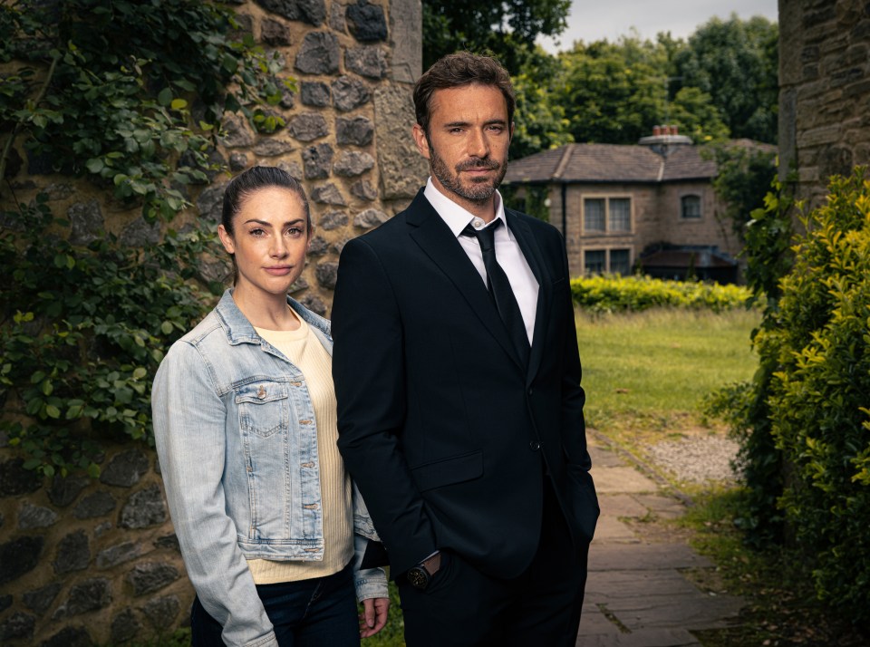
POLYGON ((0 177, 24 140, 32 171, 89 176, 150 220, 216 169, 224 111, 275 130, 267 106, 293 88, 232 11, 193 0, 2 5, 0 63, 0 177))

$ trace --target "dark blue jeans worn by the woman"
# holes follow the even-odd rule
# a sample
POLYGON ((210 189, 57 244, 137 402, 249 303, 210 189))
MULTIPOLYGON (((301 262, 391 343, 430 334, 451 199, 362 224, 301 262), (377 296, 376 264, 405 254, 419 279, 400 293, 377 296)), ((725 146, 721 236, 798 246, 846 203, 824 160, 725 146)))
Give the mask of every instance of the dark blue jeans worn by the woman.
MULTIPOLYGON (((357 647, 360 623, 352 565, 326 577, 301 582, 257 584, 266 615, 281 647, 357 647)), ((194 598, 190 609, 193 647, 220 647, 221 626, 194 598)))

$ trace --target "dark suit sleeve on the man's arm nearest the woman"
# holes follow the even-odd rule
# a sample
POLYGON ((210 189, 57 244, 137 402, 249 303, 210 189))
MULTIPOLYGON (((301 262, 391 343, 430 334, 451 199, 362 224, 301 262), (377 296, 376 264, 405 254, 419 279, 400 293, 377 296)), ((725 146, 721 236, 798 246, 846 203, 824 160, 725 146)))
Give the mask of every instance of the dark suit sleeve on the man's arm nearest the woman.
POLYGON ((401 313, 390 276, 361 238, 343 248, 333 299, 338 447, 398 575, 438 546, 401 454, 405 419, 401 313))

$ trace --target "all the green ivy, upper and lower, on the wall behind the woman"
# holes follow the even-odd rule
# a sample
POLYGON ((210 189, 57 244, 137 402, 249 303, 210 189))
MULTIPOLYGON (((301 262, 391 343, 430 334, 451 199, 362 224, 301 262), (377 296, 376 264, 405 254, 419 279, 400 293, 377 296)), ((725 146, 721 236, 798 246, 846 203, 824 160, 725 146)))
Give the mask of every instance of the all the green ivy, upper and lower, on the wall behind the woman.
MULTIPOLYGON (((293 88, 235 14, 194 0, 0 5, 0 178, 90 179, 148 221, 171 223, 187 187, 223 168, 221 119, 260 131, 293 88)), ((0 431, 24 467, 99 475, 103 439, 150 441, 150 384, 164 352, 213 302, 213 225, 131 248, 70 224, 40 194, 0 186, 0 431), (11 199, 10 199, 11 198, 11 199)))

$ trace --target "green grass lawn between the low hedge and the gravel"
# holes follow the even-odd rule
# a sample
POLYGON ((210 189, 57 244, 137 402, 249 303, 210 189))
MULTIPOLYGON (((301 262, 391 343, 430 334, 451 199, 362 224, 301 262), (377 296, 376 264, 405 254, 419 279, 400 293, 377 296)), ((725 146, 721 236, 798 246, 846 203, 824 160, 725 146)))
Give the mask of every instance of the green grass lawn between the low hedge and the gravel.
POLYGON ((710 425, 704 398, 751 378, 758 311, 578 313, 586 424, 623 444, 710 425))

